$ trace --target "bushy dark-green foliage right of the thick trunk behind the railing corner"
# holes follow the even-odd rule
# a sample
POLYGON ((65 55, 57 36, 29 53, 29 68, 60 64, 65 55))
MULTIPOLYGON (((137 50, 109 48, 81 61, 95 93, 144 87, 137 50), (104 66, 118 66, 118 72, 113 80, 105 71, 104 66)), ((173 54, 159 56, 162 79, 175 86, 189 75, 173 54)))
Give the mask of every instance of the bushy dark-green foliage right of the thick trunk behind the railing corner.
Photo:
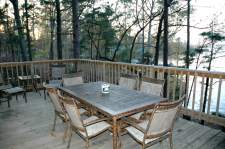
POLYGON ((109 57, 115 45, 116 31, 112 27, 113 10, 109 5, 93 8, 81 20, 81 48, 89 49, 90 43, 101 55, 109 57))

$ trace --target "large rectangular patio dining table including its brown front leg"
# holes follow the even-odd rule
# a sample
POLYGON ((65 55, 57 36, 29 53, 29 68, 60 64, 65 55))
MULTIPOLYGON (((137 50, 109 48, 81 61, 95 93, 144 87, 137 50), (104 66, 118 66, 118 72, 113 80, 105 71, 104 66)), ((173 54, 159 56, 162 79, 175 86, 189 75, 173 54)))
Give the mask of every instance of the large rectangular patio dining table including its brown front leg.
POLYGON ((91 82, 74 86, 59 87, 65 94, 76 98, 83 105, 93 107, 98 112, 112 119, 113 149, 120 148, 118 120, 125 116, 153 108, 161 97, 147 95, 110 84, 110 93, 101 93, 103 82, 91 82))

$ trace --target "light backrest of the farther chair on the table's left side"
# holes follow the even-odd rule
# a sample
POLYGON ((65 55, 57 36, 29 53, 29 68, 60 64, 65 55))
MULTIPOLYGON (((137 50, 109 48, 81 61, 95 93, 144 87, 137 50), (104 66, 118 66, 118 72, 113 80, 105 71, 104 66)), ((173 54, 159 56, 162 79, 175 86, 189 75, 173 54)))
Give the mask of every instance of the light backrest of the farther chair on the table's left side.
POLYGON ((49 97, 51 99, 51 102, 52 102, 55 110, 59 113, 64 114, 64 110, 63 110, 63 107, 62 107, 62 103, 59 100, 57 89, 56 88, 50 88, 50 87, 46 87, 46 89, 48 91, 49 97))

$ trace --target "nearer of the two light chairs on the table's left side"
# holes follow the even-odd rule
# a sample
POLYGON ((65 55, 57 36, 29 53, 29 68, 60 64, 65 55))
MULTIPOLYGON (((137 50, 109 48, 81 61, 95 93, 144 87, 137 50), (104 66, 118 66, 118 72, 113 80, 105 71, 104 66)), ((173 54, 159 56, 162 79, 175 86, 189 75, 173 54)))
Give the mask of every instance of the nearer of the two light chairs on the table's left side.
POLYGON ((72 131, 78 133, 85 141, 86 148, 89 147, 89 140, 100 133, 108 130, 111 126, 105 122, 106 118, 99 119, 96 116, 90 116, 85 120, 81 119, 77 103, 70 97, 62 97, 62 102, 69 117, 69 141, 67 148, 70 148, 72 131))

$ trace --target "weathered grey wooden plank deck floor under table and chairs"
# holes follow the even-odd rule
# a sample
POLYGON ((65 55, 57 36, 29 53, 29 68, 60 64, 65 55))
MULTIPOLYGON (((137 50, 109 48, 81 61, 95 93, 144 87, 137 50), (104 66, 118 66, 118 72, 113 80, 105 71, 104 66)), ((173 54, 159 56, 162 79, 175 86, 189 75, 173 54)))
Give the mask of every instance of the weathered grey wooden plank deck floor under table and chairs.
MULTIPOLYGON (((28 93, 28 103, 22 97, 12 100, 11 108, 0 105, 0 148, 1 149, 66 149, 62 136, 65 125, 58 120, 56 131, 52 135, 53 107, 44 100, 43 93, 28 93)), ((175 149, 225 149, 225 133, 179 118, 173 133, 175 149)), ((83 149, 85 142, 73 135, 71 149, 83 149)), ((92 139, 90 148, 112 148, 112 136, 105 132, 92 139)), ((122 136, 122 149, 140 148, 130 136, 122 136)), ((168 140, 150 148, 169 148, 168 140)))

